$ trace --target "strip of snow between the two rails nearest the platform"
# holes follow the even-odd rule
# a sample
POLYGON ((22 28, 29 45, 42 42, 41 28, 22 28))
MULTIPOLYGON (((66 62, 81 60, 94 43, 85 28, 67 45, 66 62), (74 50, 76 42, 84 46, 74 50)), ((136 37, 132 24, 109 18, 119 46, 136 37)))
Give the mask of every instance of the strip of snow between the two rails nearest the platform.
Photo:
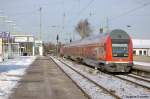
POLYGON ((91 97, 91 99, 114 99, 113 96, 107 94, 107 92, 102 89, 99 89, 99 87, 95 86, 95 84, 83 78, 57 59, 53 57, 51 58, 91 97))

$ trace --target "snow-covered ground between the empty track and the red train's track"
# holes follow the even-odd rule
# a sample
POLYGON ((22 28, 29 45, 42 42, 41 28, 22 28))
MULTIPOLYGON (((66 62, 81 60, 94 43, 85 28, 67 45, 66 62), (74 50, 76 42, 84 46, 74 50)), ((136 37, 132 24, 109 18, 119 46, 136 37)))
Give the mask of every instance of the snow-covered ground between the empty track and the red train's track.
POLYGON ((141 86, 137 86, 133 83, 121 80, 102 72, 98 73, 97 75, 93 75, 88 72, 90 71, 88 67, 77 65, 67 60, 65 60, 65 63, 67 63, 69 66, 76 69, 83 75, 87 76, 88 78, 94 80, 95 82, 98 82, 106 89, 115 91, 115 93, 122 98, 127 98, 129 96, 147 96, 150 98, 150 91, 144 89, 141 86))

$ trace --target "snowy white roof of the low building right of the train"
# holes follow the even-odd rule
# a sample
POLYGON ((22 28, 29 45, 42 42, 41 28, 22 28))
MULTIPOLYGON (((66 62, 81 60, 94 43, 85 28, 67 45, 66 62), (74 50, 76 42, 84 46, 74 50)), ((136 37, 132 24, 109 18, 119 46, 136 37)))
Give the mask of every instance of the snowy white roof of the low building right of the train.
POLYGON ((148 39, 132 39, 133 48, 150 48, 150 40, 148 39))

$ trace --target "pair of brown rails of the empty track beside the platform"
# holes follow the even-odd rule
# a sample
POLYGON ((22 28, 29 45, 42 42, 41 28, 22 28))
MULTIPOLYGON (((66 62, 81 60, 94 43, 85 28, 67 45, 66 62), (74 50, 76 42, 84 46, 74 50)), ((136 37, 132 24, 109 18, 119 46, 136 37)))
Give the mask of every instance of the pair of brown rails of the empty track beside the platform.
MULTIPOLYGON (((52 58, 53 59, 53 58, 52 58)), ((54 59, 53 59, 54 60, 54 59)), ((93 81, 92 79, 90 79, 90 78, 88 78, 87 76, 85 76, 84 74, 82 74, 81 72, 79 72, 79 71, 77 71, 76 69, 74 69, 74 68, 72 68, 72 67, 70 67, 68 64, 66 64, 65 62, 63 62, 63 61, 61 61, 61 60, 59 60, 59 59, 57 59, 59 62, 61 62, 62 64, 64 64, 66 67, 68 67, 69 69, 71 69, 72 71, 74 71, 74 72, 76 72, 77 74, 79 74, 80 76, 82 76, 82 78, 84 78, 84 79, 86 79, 86 80, 88 80, 90 83, 92 83, 94 86, 95 86, 95 88, 97 87, 97 88, 99 88, 99 89, 102 89, 103 91, 104 91, 104 93, 107 93, 107 94, 109 94, 109 95, 111 95, 113 98, 115 98, 115 99, 121 99, 121 97, 120 96, 118 96, 118 95, 116 95, 112 90, 108 90, 108 89, 106 89, 105 87, 103 87, 103 86, 101 86, 100 84, 98 84, 97 82, 95 82, 95 81, 93 81)), ((55 61, 54 61, 55 62, 55 61)), ((56 63, 56 62, 55 62, 56 63)), ((56 63, 57 65, 58 65, 58 63, 56 63)), ((60 66, 59 66, 60 67, 60 66)), ((62 67, 60 67, 61 69, 62 69, 62 67)), ((63 69, 63 71, 64 71, 64 69, 63 69)), ((65 72, 65 71, 64 71, 65 72)), ((67 74, 67 73, 66 73, 67 74)), ((70 76, 70 75, 68 75, 67 74, 67 76, 70 76)), ((71 78, 71 77, 70 77, 71 78)), ((72 79, 72 78, 71 78, 72 79)), ((83 80, 83 79, 82 79, 83 80)), ((75 81, 74 81, 75 82, 75 81)), ((77 83, 75 82, 75 84, 77 85, 77 83)), ((79 85, 77 85, 78 87, 80 87, 79 85)), ((96 88, 96 89, 97 89, 96 88)), ((82 90, 82 91, 84 91, 84 89, 82 89, 81 87, 80 87, 80 89, 82 90)), ((84 92, 89 98, 92 98, 90 95, 88 95, 86 92, 84 92)))

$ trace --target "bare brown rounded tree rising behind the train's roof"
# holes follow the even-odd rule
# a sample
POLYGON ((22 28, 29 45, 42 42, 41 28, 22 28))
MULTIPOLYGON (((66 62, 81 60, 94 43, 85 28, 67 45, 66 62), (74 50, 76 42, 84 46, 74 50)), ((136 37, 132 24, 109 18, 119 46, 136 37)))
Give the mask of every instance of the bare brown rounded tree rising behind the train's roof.
POLYGON ((82 39, 88 37, 92 33, 92 28, 87 19, 81 20, 75 27, 75 30, 79 33, 82 39))

